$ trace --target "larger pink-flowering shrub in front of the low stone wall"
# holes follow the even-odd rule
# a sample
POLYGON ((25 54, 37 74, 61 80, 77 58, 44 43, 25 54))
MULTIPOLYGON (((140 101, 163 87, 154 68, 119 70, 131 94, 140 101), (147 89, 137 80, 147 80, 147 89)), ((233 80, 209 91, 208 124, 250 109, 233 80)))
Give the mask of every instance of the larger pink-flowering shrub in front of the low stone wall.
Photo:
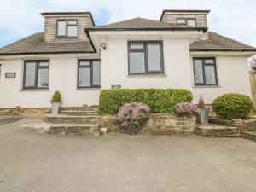
POLYGON ((117 125, 121 132, 134 135, 142 130, 149 119, 150 108, 143 103, 131 102, 119 109, 117 125))

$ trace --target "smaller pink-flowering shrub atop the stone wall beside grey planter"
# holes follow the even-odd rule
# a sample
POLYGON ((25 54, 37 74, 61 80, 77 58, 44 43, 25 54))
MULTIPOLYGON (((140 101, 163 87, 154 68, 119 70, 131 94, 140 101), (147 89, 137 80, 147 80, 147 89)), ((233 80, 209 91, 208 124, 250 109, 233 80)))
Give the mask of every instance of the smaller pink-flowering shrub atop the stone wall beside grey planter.
POLYGON ((199 108, 197 108, 195 104, 182 102, 177 104, 176 113, 178 115, 197 115, 199 113, 199 108))

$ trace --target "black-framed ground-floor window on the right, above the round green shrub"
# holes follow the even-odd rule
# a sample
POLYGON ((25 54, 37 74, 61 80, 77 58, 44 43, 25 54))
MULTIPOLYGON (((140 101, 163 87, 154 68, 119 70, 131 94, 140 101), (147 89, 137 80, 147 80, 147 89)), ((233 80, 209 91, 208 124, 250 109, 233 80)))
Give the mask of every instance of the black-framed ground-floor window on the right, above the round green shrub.
POLYGON ((194 58, 195 85, 218 85, 215 58, 194 58))

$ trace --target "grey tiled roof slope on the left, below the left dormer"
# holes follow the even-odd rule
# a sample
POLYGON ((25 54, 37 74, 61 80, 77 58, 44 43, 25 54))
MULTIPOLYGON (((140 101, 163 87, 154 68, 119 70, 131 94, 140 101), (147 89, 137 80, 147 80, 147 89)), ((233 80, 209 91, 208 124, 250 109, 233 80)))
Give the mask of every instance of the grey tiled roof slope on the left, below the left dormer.
POLYGON ((44 32, 22 38, 13 44, 0 48, 0 55, 94 52, 90 41, 46 43, 43 38, 44 32))

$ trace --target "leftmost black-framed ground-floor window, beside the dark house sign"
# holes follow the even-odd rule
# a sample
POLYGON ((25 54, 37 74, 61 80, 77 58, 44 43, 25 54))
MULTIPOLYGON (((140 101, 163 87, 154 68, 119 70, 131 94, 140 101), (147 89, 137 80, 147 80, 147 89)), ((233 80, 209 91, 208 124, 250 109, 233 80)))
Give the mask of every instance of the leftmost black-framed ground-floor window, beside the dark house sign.
POLYGON ((23 89, 49 88, 49 61, 25 61, 23 89))

